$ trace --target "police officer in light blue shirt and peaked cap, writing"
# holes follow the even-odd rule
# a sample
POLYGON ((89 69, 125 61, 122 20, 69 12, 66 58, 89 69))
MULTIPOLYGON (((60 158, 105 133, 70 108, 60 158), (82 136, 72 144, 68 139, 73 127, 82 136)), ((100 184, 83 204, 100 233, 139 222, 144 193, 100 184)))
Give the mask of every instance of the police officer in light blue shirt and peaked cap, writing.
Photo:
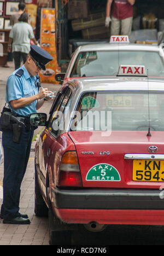
MULTIPOLYGON (((30 224, 26 214, 19 213, 20 187, 30 156, 33 127, 28 124, 28 115, 36 113, 51 92, 47 88, 38 89, 38 72, 53 58, 37 45, 31 45, 25 64, 8 78, 6 101, 11 113, 20 119, 22 126, 20 141, 14 141, 14 128, 2 130, 4 150, 3 204, 1 218, 3 223, 30 224)), ((12 126, 11 126, 12 127, 12 126)), ((14 126, 13 126, 14 127, 14 126)))

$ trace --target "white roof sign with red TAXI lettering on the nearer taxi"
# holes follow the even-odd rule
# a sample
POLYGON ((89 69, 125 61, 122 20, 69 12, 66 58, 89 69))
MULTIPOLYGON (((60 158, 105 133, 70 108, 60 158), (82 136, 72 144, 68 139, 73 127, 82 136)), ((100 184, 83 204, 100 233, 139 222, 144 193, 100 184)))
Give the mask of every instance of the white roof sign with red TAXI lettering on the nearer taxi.
POLYGON ((128 65, 121 65, 119 67, 118 75, 132 75, 132 76, 144 76, 147 77, 145 72, 145 66, 128 66, 128 65))

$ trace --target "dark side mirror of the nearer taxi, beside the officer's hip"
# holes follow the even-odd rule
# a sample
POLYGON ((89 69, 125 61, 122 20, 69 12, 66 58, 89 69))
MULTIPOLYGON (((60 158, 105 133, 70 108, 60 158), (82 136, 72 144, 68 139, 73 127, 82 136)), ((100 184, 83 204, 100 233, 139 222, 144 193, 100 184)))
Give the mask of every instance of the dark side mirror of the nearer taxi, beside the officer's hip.
POLYGON ((47 115, 45 113, 33 113, 29 117, 32 126, 46 126, 47 115))

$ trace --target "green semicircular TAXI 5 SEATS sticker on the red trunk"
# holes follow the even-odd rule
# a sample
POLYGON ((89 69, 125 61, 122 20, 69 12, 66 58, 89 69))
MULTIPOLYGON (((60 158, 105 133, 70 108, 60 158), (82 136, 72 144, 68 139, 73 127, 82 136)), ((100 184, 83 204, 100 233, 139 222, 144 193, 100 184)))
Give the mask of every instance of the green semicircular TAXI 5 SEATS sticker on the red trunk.
POLYGON ((115 167, 108 164, 93 166, 86 175, 86 181, 121 181, 115 167))

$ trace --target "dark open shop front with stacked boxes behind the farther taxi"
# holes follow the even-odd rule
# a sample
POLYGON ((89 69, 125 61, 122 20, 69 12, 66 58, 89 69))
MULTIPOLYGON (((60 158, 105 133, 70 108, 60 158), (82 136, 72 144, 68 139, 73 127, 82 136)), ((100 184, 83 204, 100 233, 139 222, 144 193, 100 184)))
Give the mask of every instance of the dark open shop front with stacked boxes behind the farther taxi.
MULTIPOLYGON (((106 4, 107 0, 56 0, 58 63, 69 60, 79 45, 109 42, 106 4)), ((131 43, 157 44, 164 30, 163 7, 163 0, 136 0, 131 43)))

